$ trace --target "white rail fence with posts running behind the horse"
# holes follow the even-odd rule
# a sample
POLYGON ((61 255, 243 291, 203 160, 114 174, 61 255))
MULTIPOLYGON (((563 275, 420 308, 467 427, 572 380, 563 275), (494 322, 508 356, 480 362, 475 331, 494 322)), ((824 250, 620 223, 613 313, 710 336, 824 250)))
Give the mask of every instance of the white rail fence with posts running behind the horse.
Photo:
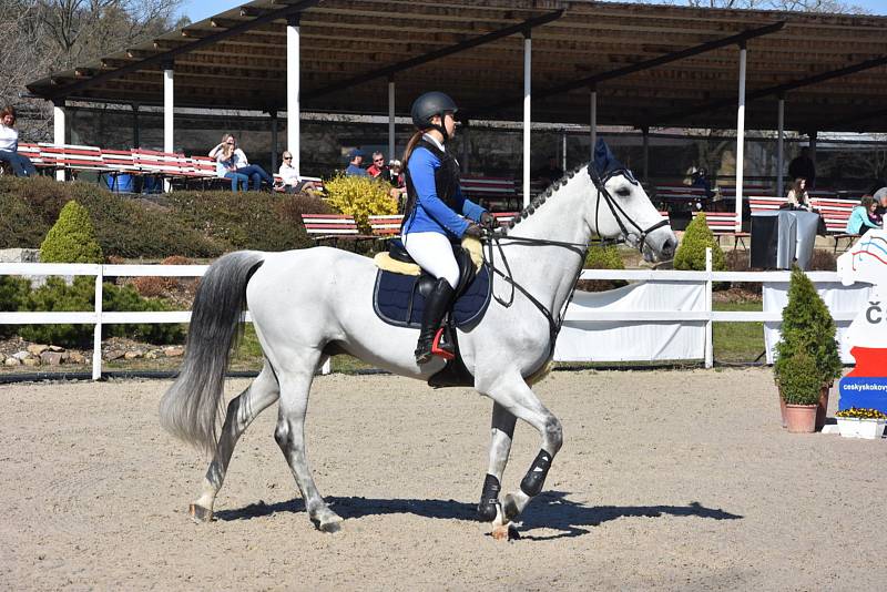
MULTIPOLYGON (((713 323, 762 323, 778 321, 781 310, 762 312, 715 312, 712 308, 712 285, 714 282, 754 282, 784 284, 789 279, 788 272, 712 272, 711 257, 708 271, 705 272, 676 272, 676 271, 610 271, 585 269, 582 279, 622 279, 628 282, 646 282, 648 284, 693 283, 704 286, 705 298, 702 310, 579 310, 571 306, 567 310, 565 321, 595 321, 595 323, 686 323, 704 324, 705 339, 704 354, 706 367, 713 365, 712 325, 713 323)), ((50 325, 50 324, 84 324, 94 325, 92 378, 98 380, 102 375, 102 325, 104 324, 152 324, 152 323, 188 323, 190 312, 166 313, 126 313, 102 310, 102 282, 105 277, 200 277, 207 265, 83 265, 83 264, 43 264, 43 263, 0 263, 0 276, 94 276, 95 277, 95 309, 77 313, 3 313, 0 312, 0 325, 50 325)), ((807 274, 815 283, 836 283, 837 274, 834 272, 812 272, 807 274)), ((855 316, 856 310, 833 310, 833 317, 838 324, 847 324, 855 316)), ((251 321, 248 313, 245 320, 251 321)), ((691 356, 699 359, 699 356, 691 356)), ((328 371, 328 366, 325 368, 328 371)))

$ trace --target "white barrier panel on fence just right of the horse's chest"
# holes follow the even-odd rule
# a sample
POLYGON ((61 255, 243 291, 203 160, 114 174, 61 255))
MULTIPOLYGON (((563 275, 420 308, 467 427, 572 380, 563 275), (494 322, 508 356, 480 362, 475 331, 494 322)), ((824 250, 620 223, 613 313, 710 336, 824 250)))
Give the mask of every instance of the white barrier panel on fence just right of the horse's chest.
POLYGON ((705 357, 705 283, 657 280, 577 292, 567 318, 554 348, 558 361, 705 357))

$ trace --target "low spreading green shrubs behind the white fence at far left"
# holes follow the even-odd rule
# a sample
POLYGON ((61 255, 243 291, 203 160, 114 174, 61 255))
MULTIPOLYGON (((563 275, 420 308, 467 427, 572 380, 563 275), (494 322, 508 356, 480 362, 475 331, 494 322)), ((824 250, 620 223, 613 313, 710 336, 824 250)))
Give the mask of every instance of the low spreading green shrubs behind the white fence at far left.
MULTIPOLYGON (((88 312, 95 308, 94 280, 79 276, 68 285, 59 277, 50 277, 45 285, 29 290, 22 298, 19 310, 27 312, 88 312)), ((130 286, 104 284, 102 309, 106 312, 171 310, 162 300, 142 298, 130 286)), ((90 347, 92 325, 23 325, 19 329, 22 339, 64 347, 90 347)), ((103 325, 102 337, 130 337, 151 344, 182 343, 184 330, 180 325, 103 325)))

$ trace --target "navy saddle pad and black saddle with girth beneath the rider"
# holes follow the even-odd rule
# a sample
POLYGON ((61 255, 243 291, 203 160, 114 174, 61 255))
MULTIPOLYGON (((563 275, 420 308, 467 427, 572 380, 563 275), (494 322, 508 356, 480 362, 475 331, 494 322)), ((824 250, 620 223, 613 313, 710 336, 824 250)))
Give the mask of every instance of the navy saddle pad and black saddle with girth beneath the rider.
MULTIPOLYGON (((462 363, 455 329, 470 330, 475 327, 487 312, 492 294, 489 267, 486 264, 478 267, 471 254, 460 245, 453 245, 452 252, 459 265, 459 284, 437 340, 452 344, 456 356, 447 359, 446 367, 429 378, 429 386, 436 388, 473 385, 473 377, 462 363)), ((389 241, 387 257, 377 255, 376 263, 380 267, 373 290, 376 315, 389 325, 418 329, 425 298, 437 279, 418 269, 399 238, 389 241)))

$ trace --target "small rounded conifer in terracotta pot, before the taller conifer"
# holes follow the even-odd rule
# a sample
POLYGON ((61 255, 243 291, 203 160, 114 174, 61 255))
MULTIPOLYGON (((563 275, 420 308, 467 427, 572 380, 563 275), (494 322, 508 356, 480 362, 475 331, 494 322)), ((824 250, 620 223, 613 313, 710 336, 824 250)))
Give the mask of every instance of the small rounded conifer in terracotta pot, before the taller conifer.
POLYGON ((816 409, 823 384, 813 356, 806 351, 797 351, 784 358, 776 380, 785 400, 785 423, 788 431, 816 431, 816 409))

